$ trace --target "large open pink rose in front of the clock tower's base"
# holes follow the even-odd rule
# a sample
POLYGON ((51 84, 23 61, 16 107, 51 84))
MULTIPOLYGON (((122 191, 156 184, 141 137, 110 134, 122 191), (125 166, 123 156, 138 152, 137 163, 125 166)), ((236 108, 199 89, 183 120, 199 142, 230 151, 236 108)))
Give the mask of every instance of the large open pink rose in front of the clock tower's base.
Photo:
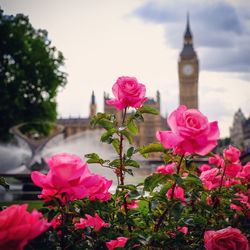
POLYGON ((181 105, 168 117, 171 131, 158 131, 157 139, 167 149, 178 154, 206 155, 217 144, 217 122, 208 122, 206 116, 196 109, 181 105))

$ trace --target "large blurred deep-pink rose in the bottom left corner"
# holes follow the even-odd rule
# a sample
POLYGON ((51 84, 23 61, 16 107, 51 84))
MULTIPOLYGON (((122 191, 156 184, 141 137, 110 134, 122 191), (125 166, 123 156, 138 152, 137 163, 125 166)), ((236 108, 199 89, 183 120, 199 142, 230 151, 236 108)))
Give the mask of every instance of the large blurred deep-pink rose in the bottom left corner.
POLYGON ((0 249, 22 250, 29 240, 45 232, 51 224, 27 204, 12 205, 0 212, 0 249))

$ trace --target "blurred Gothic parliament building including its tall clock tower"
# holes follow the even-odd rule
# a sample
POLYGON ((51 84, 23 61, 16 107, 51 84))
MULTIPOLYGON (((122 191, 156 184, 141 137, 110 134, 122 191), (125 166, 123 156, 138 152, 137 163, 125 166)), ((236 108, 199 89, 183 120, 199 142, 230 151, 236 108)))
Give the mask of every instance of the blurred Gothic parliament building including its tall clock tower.
MULTIPOLYGON (((183 38, 183 48, 178 60, 179 75, 179 104, 185 104, 188 108, 198 108, 198 77, 199 77, 199 61, 193 47, 193 36, 191 33, 189 17, 187 17, 186 29, 183 38)), ((109 94, 104 93, 104 112, 121 115, 113 106, 106 104, 109 94)), ((161 96, 156 91, 155 98, 148 98, 145 105, 152 106, 161 114, 161 96)), ((96 114, 97 104, 94 92, 91 95, 89 106, 89 116, 86 118, 61 118, 58 123, 64 126, 65 137, 90 129, 90 119, 96 114)), ((139 134, 136 138, 136 144, 143 146, 156 141, 155 134, 158 130, 167 130, 166 117, 162 115, 145 115, 143 123, 138 124, 139 134)))

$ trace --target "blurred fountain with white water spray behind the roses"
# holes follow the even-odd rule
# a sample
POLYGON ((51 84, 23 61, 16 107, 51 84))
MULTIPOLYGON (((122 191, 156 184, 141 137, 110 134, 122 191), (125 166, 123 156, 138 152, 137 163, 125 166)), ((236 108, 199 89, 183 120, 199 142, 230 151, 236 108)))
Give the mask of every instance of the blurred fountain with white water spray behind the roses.
MULTIPOLYGON (((15 191, 13 193, 20 194, 25 191, 27 197, 28 192, 32 192, 32 197, 27 197, 27 199, 34 199, 34 186, 30 183, 30 173, 33 170, 39 170, 46 172, 46 164, 44 160, 57 153, 70 153, 76 154, 84 159, 84 155, 88 153, 98 153, 103 159, 115 159, 117 157, 116 152, 108 144, 100 142, 100 137, 103 133, 101 129, 86 130, 81 133, 72 135, 70 137, 64 138, 62 133, 62 127, 56 125, 56 129, 49 136, 39 137, 35 131, 32 133, 26 133, 25 130, 27 125, 25 124, 15 126, 11 129, 12 133, 18 140, 19 147, 17 146, 1 146, 0 145, 0 158, 3 159, 0 162, 0 176, 5 177, 15 177, 25 185, 20 187, 11 185, 11 188, 15 191), (17 190, 18 189, 18 190, 17 190)), ((143 161, 143 158, 139 155, 136 156, 142 164, 140 169, 133 169, 134 176, 127 176, 127 183, 139 183, 143 178, 150 174, 155 166, 159 163, 149 164, 143 161)), ((113 180, 113 189, 117 184, 117 179, 115 174, 111 169, 103 168, 97 164, 89 164, 89 169, 91 172, 105 176, 107 179, 113 180)), ((10 189, 11 189, 10 188, 10 189)), ((37 190, 37 189, 36 189, 37 190)), ((3 197, 4 200, 13 199, 24 199, 25 197, 20 195, 11 195, 10 192, 4 192, 4 196, 1 195, 0 199, 3 197)), ((3 194, 3 192, 2 192, 3 194)))

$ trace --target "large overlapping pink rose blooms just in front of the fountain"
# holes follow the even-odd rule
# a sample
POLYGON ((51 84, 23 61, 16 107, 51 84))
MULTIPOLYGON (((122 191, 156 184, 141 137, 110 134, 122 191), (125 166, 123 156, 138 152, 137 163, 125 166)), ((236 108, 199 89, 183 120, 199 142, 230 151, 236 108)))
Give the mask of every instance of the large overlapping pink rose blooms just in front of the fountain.
POLYGON ((34 171, 32 181, 41 187, 39 196, 45 200, 57 197, 62 202, 90 197, 106 201, 112 181, 92 174, 86 163, 76 155, 57 154, 47 160, 50 168, 47 175, 34 171))

